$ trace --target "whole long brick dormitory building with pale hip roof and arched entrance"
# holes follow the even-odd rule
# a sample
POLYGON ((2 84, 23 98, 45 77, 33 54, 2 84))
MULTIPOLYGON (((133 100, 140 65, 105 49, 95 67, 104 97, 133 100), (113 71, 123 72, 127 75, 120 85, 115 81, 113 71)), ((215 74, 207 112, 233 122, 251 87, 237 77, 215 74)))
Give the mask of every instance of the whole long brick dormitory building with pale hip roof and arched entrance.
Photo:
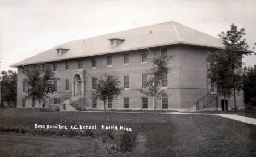
MULTIPOLYGON (((57 93, 49 94, 53 101, 44 100, 43 107, 77 102, 82 108, 104 108, 102 101, 91 98, 91 92, 96 87, 95 78, 107 73, 120 77, 124 87, 117 100, 107 102, 107 108, 153 109, 154 100, 139 90, 149 78, 146 71, 153 67, 150 58, 166 52, 173 59, 162 89, 171 95, 161 98, 158 108, 221 110, 223 98, 216 95, 214 84, 207 78, 206 63, 207 53, 217 48, 223 48, 218 38, 173 21, 70 41, 11 65, 18 67, 17 106, 39 107, 39 102, 25 100, 22 66, 43 62, 49 63, 61 79, 55 82, 57 93)), ((232 97, 228 107, 234 107, 232 97)), ((243 108, 242 92, 237 95, 237 107, 243 108)))

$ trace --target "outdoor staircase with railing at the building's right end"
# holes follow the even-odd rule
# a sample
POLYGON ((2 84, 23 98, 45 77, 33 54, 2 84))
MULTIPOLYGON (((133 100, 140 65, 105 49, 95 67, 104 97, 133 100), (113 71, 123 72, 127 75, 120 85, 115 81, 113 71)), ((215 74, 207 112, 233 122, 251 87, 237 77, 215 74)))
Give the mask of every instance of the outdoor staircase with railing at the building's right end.
POLYGON ((206 95, 202 96, 199 100, 196 101, 196 104, 193 105, 189 111, 194 112, 194 111, 201 111, 201 110, 207 110, 206 106, 209 104, 215 104, 216 106, 216 101, 218 99, 217 94, 210 94, 207 93, 206 95))

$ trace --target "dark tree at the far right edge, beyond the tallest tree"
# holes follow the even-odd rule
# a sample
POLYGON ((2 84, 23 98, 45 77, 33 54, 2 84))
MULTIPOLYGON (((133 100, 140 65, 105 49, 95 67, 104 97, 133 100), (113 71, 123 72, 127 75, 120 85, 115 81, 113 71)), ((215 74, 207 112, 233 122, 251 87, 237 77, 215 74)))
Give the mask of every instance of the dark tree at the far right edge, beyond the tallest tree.
POLYGON ((256 65, 243 68, 243 92, 245 92, 245 103, 256 96, 256 65))

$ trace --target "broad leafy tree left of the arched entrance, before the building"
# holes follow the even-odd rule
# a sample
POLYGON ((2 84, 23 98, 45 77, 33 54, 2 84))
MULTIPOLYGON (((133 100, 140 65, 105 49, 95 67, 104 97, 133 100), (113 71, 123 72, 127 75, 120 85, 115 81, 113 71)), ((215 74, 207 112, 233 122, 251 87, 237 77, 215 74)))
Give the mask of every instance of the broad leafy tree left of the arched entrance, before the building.
MULTIPOLYGON (((24 74, 28 93, 26 99, 32 99, 33 104, 36 100, 41 102, 42 99, 47 98, 48 93, 54 93, 56 87, 53 82, 60 80, 54 76, 49 65, 42 63, 24 67, 24 74)), ((41 108, 41 103, 39 107, 41 108)))

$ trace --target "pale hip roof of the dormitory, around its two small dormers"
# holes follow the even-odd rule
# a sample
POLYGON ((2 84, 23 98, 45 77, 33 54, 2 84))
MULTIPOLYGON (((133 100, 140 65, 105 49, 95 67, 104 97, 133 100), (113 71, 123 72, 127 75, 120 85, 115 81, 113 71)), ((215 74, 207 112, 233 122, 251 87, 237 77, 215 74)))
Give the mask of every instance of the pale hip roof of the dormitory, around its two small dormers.
POLYGON ((193 28, 170 21, 156 25, 129 29, 126 31, 104 34, 97 37, 69 41, 53 49, 15 63, 10 67, 53 62, 65 59, 89 57, 108 53, 124 52, 150 47, 173 44, 189 44, 204 47, 224 48, 222 41, 211 35, 196 31, 193 28), (125 39, 117 46, 111 46, 109 39, 125 39), (66 53, 57 55, 57 49, 67 49, 66 53))

